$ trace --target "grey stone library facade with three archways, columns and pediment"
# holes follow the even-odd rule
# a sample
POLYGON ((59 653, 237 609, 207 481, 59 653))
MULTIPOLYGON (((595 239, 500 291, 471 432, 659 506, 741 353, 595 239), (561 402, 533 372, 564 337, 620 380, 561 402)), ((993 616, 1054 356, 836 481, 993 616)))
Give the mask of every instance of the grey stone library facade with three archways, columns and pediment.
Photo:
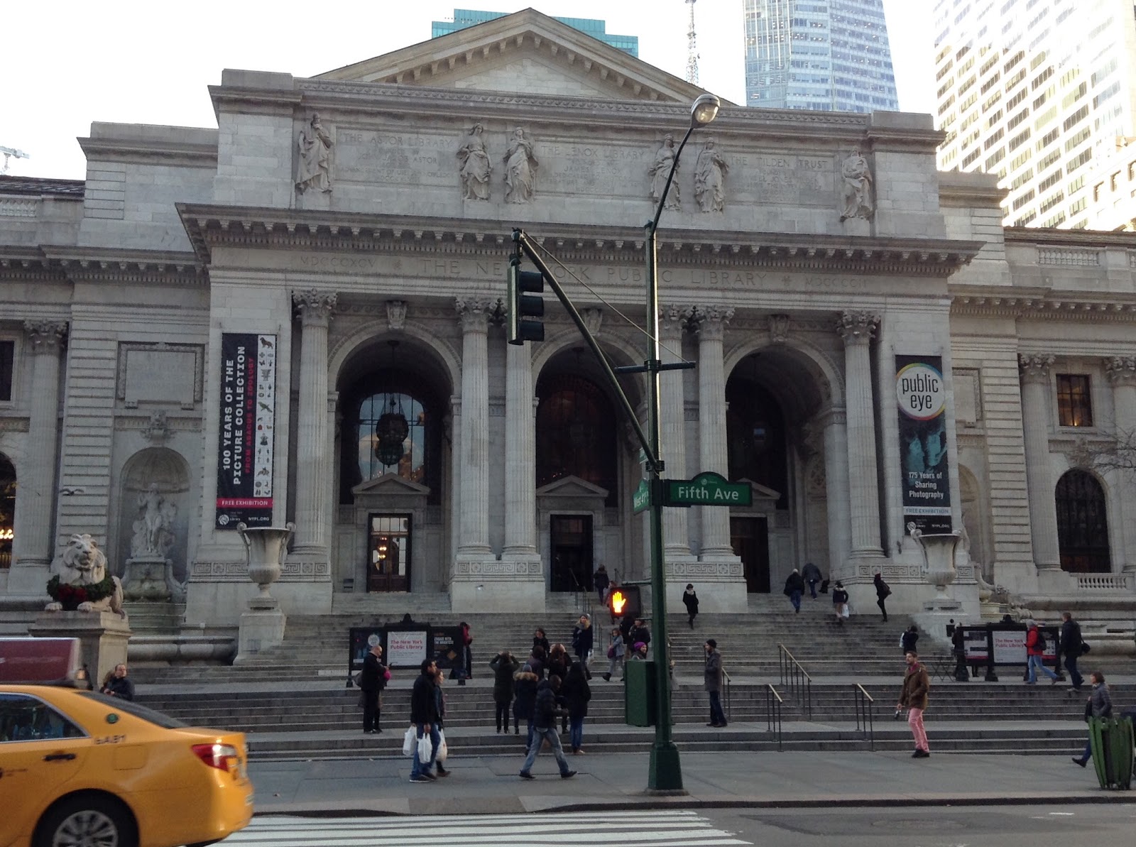
MULTIPOLYGON (((296 525, 289 613, 536 611, 601 563, 646 576, 596 363, 550 293, 524 346, 500 301, 521 226, 611 363, 648 358, 643 224, 701 92, 526 10, 210 93, 218 129, 94 124, 85 184, 0 181, 0 601, 90 532, 116 573, 168 560, 187 626, 234 627, 239 521, 296 525)), ((939 139, 729 103, 692 136, 660 223, 663 358, 696 362, 661 377, 666 476, 753 497, 666 510, 671 605, 690 581, 741 612, 813 561, 854 606, 882 572, 916 611, 908 523, 963 531, 971 614, 976 571, 1131 596, 1136 490, 1091 454, 1136 429, 1136 241, 1004 230, 939 139)))

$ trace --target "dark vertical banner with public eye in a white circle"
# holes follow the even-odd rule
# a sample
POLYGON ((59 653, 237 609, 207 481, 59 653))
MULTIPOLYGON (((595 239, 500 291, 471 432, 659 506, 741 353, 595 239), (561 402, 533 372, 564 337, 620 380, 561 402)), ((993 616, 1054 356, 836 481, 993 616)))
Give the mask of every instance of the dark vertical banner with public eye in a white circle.
POLYGON ((900 412, 903 530, 951 531, 951 475, 946 451, 946 383, 943 358, 895 357, 900 412))

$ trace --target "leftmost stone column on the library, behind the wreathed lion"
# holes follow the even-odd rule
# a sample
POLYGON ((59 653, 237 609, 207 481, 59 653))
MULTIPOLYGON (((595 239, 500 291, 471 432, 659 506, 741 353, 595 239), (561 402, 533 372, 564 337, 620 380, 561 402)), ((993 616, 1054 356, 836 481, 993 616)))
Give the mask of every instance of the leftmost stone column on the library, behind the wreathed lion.
POLYGON ((55 505, 59 463, 59 368, 67 324, 25 321, 32 351, 27 456, 18 468, 16 526, 9 594, 45 594, 55 553, 55 505))

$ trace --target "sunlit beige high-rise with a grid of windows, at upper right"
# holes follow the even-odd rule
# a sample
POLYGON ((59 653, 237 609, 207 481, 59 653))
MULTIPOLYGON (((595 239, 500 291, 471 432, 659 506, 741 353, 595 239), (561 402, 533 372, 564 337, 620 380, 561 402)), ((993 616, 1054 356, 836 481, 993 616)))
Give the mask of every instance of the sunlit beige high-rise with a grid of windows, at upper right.
POLYGON ((996 174, 1006 224, 1133 228, 1131 0, 936 0, 934 26, 939 167, 996 174))

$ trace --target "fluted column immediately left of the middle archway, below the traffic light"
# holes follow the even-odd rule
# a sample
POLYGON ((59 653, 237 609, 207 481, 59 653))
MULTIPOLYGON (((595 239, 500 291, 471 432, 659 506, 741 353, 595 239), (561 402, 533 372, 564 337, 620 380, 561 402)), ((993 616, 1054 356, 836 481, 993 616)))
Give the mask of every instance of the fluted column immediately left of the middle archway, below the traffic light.
POLYGON ((504 394, 504 554, 536 555, 536 419, 527 344, 507 344, 504 394))

